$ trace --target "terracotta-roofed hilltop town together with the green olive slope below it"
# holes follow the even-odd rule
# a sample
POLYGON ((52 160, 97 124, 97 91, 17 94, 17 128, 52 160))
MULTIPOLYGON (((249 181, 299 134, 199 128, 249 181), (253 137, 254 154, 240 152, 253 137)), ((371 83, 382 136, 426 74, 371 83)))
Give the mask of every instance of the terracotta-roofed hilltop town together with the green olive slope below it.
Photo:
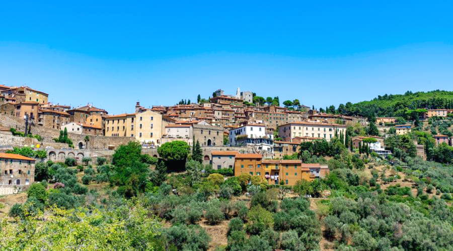
MULTIPOLYGON (((424 239, 391 229, 420 220, 450 227, 433 230, 433 248, 452 246, 451 226, 439 218, 453 219, 448 98, 385 112, 349 102, 315 109, 238 88, 111 114, 102 105, 50 103, 28 86, 0 85, 0 93, 0 215, 8 226, 0 247, 16 246, 13 226, 26 222, 77 228, 68 215, 87 208, 96 209, 79 220, 113 212, 149 230, 141 244, 134 239, 144 235, 131 229, 117 230, 129 235, 114 242, 106 229, 118 226, 106 220, 88 227, 90 248, 409 250, 424 239), (404 219, 401 205, 412 212, 404 219), (370 229, 378 220, 382 230, 370 229)), ((373 101, 393 98, 400 96, 373 101)), ((44 233, 27 243, 55 245, 44 233)))

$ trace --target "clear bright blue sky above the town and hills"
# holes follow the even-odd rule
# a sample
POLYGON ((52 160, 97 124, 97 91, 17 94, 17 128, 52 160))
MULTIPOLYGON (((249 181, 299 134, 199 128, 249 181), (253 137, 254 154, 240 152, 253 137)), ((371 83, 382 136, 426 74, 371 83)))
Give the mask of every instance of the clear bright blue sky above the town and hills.
POLYGON ((452 90, 452 3, 4 1, 0 84, 110 113, 217 88, 316 107, 452 90))

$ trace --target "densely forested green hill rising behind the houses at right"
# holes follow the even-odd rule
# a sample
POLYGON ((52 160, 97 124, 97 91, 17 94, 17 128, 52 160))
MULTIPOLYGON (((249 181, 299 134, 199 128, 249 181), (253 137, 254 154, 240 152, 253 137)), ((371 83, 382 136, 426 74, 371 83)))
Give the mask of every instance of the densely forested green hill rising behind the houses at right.
MULTIPOLYGON (((434 90, 414 93, 407 91, 404 95, 385 94, 370 101, 340 104, 336 110, 332 105, 328 107, 327 112, 334 110, 336 113, 345 115, 398 117, 404 116, 408 109, 417 108, 453 109, 453 91, 434 90)), ((323 111, 323 109, 320 110, 323 111)))

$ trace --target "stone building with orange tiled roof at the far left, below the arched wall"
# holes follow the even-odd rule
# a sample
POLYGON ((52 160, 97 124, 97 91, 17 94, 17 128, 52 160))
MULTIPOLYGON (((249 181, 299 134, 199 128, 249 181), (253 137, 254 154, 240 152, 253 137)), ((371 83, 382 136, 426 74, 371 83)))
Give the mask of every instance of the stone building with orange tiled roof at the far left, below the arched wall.
POLYGON ((28 186, 35 181, 35 160, 18 154, 0 153, 0 187, 28 186))

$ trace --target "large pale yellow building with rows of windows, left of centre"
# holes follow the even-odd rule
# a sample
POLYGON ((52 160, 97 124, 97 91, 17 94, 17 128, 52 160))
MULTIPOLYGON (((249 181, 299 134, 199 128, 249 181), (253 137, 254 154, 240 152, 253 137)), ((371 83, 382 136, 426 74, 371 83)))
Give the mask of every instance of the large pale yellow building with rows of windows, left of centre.
POLYGON ((160 146, 165 126, 175 121, 152 110, 106 116, 105 136, 134 137, 143 145, 160 146))

